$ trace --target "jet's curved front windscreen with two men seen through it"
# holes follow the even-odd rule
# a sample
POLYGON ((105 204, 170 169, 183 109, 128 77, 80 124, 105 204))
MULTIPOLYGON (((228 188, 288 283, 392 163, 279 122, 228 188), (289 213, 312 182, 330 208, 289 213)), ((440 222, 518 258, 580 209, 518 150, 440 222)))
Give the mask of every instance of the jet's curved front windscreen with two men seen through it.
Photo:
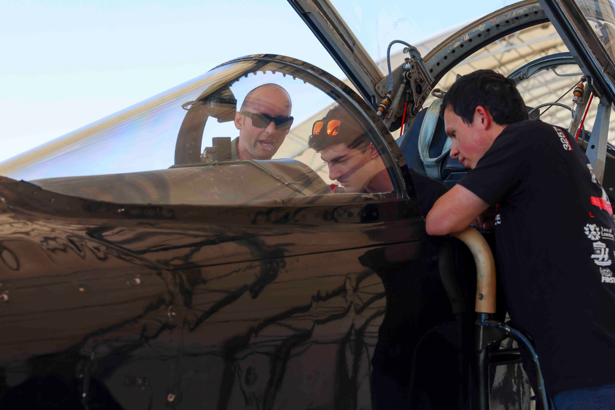
POLYGON ((2 175, 116 203, 296 205, 401 196, 381 130, 365 103, 349 95, 342 82, 302 61, 239 58, 26 152, 4 163, 2 175), (323 119, 337 127, 315 129, 323 119), (321 132, 329 145, 311 147, 321 132), (344 147, 335 141, 342 136, 349 137, 344 147), (367 160, 347 155, 345 173, 333 176, 323 152, 348 151, 352 141, 349 152, 367 160), (387 184, 367 189, 375 177, 387 184))

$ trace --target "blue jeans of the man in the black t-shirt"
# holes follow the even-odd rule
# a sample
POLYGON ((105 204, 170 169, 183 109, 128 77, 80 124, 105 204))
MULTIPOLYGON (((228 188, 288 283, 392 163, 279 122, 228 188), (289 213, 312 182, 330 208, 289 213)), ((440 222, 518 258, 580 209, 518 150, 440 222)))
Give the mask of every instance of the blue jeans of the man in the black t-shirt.
POLYGON ((573 388, 555 395, 552 410, 614 410, 615 384, 573 388))

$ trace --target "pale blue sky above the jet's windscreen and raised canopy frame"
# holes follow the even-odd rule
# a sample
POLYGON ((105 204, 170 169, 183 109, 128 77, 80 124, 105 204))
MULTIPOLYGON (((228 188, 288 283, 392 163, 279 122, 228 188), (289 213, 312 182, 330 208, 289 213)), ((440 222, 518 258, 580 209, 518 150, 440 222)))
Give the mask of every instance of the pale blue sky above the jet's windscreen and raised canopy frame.
MULTIPOLYGON (((375 57, 511 3, 333 1, 375 57)), ((3 0, 0 161, 256 53, 344 77, 285 0, 3 0)))

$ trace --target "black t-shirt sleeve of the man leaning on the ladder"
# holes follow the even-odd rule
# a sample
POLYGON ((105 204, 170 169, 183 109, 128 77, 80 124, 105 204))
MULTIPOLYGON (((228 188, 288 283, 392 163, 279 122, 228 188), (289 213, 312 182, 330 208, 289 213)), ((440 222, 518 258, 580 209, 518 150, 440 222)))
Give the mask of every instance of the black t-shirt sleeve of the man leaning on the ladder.
POLYGON ((478 164, 461 178, 459 184, 494 207, 513 187, 520 183, 533 150, 528 136, 503 132, 478 164))

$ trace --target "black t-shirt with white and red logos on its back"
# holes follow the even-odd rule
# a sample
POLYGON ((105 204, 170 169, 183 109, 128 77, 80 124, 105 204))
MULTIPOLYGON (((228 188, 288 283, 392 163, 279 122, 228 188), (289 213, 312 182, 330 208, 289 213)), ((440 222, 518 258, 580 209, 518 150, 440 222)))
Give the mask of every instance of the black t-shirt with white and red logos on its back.
POLYGON ((547 394, 615 383, 615 227, 565 130, 508 125, 459 184, 497 206, 510 318, 534 339, 547 394))

